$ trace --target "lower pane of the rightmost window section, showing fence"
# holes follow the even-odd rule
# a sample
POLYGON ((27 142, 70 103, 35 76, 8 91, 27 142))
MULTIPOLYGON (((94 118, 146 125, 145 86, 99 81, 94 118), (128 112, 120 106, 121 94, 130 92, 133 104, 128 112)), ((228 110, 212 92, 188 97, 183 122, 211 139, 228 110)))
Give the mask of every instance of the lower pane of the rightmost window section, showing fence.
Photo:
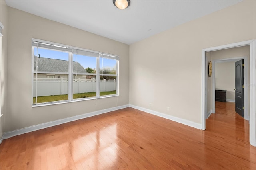
POLYGON ((103 76, 100 80, 100 96, 116 94, 116 84, 116 76, 103 76))

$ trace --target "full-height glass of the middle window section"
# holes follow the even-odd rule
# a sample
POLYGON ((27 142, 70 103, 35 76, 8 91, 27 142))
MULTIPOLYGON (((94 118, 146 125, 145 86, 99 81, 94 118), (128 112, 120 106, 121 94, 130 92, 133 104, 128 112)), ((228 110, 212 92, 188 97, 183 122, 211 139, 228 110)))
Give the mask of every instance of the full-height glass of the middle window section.
POLYGON ((73 55, 73 99, 96 96, 96 57, 73 55))

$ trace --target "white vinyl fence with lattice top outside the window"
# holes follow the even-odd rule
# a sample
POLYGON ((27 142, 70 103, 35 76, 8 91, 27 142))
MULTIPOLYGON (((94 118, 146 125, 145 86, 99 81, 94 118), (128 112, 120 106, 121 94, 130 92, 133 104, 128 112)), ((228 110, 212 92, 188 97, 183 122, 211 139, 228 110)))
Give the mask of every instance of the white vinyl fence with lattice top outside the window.
MULTIPOLYGON (((36 79, 33 84, 33 97, 36 96, 36 79)), ((100 92, 116 90, 116 80, 100 80, 100 92)), ((73 94, 96 92, 96 80, 74 79, 73 94)), ((38 78, 37 96, 51 96, 68 94, 68 79, 65 78, 38 78)))

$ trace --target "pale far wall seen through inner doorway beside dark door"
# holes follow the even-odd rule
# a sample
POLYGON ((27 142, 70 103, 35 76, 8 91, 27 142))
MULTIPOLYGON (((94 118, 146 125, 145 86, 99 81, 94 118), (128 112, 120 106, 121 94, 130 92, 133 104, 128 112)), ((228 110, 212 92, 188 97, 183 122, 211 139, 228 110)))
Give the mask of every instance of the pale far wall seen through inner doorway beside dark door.
POLYGON ((235 101, 235 62, 215 64, 215 89, 227 90, 227 101, 235 101))

